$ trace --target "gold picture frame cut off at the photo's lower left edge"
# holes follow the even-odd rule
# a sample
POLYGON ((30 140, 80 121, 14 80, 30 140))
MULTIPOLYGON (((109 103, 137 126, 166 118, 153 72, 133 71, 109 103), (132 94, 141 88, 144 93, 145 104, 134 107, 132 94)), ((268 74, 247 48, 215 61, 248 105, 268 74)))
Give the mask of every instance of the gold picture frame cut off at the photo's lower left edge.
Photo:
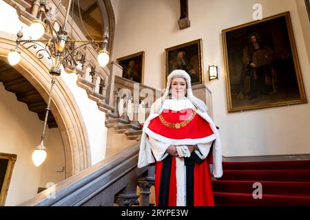
POLYGON ((8 195, 8 188, 16 159, 16 154, 0 153, 0 206, 4 206, 6 203, 6 196, 8 195))

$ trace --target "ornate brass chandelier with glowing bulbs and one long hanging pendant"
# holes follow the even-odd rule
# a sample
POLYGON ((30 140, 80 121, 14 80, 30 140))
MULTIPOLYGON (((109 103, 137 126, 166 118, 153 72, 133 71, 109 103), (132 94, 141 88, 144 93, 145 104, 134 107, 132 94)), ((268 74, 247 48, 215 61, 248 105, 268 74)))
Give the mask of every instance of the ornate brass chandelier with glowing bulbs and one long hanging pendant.
MULTIPOLYGON (((26 49, 36 49, 37 58, 41 59, 45 56, 45 54, 47 54, 47 58, 52 61, 52 67, 49 70, 50 74, 52 75, 50 96, 48 98, 48 106, 45 109, 45 120, 41 135, 41 143, 32 153, 32 161, 34 162, 35 166, 40 166, 46 157, 45 146, 43 144, 44 134, 46 125, 48 123, 48 113, 50 111, 50 102, 52 100, 52 93, 54 90, 54 84, 56 82, 56 76, 61 75, 61 65, 63 65, 64 68, 70 66, 73 70, 76 69, 76 65, 78 65, 83 58, 81 50, 85 48, 86 45, 94 46, 94 50, 99 52, 98 62, 101 67, 107 65, 109 62, 109 52, 107 52, 107 31, 105 34, 103 34, 102 41, 79 41, 72 39, 72 36, 69 36, 68 32, 66 31, 66 25, 71 4, 72 0, 69 0, 67 12, 65 14, 65 20, 61 26, 56 21, 54 14, 49 14, 46 12, 46 0, 41 0, 39 7, 39 18, 32 21, 32 24, 30 25, 30 32, 32 33, 32 36, 30 36, 30 39, 25 40, 23 39, 23 32, 19 31, 17 33, 16 46, 14 49, 10 50, 10 53, 8 54, 8 62, 10 65, 16 65, 21 60, 19 45, 23 45, 26 47, 26 49), (59 30, 56 28, 57 25, 60 27, 59 30), (50 35, 48 40, 41 39, 45 32, 48 32, 50 35), (102 45, 102 47, 100 47, 100 45, 102 45)), ((60 6, 61 4, 59 4, 59 7, 60 6)), ((59 10, 59 8, 57 9, 59 10)))

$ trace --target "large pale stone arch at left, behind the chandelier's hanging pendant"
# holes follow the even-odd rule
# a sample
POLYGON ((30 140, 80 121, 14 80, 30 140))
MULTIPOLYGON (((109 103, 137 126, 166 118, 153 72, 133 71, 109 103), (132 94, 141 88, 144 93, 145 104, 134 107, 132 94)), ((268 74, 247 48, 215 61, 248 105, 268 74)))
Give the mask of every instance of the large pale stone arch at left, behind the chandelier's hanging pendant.
MULTIPOLYGON (((15 46, 16 36, 6 32, 0 32, 0 36, 2 36, 0 37, 0 58, 6 60, 8 53, 15 46)), ((47 59, 40 61, 23 46, 19 47, 19 52, 21 52, 21 61, 14 66, 14 69, 23 75, 47 101, 50 94, 51 76, 48 74, 50 63, 47 59)), ((63 139, 65 178, 68 178, 91 165, 90 144, 79 107, 61 77, 57 78, 54 89, 51 111, 63 139)))

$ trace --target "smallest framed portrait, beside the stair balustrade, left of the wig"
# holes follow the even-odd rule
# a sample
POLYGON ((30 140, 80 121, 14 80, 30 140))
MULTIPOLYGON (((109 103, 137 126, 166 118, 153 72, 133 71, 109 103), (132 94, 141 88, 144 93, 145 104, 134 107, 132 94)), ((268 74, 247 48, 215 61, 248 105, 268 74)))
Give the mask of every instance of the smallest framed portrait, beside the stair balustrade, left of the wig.
POLYGON ((144 52, 138 52, 116 59, 116 63, 123 67, 123 78, 136 83, 143 83, 144 52))

